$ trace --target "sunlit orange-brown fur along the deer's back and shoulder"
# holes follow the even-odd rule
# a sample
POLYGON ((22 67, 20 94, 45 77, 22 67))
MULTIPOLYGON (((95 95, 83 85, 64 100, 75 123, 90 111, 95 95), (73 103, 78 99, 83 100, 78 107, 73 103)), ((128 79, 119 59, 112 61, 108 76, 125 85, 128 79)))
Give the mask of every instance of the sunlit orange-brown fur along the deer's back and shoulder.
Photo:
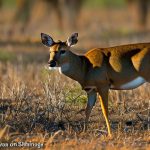
MULTIPOLYGON (((85 54, 85 57, 89 59, 93 67, 101 67, 104 56, 111 57, 111 60, 109 60, 110 65, 116 71, 120 71, 120 57, 128 55, 129 59, 131 59, 134 53, 136 54, 138 51, 141 51, 145 47, 150 47, 150 43, 121 45, 108 48, 94 48, 92 50, 89 50, 85 54)), ((133 58, 132 60, 134 61, 135 58, 133 58)))

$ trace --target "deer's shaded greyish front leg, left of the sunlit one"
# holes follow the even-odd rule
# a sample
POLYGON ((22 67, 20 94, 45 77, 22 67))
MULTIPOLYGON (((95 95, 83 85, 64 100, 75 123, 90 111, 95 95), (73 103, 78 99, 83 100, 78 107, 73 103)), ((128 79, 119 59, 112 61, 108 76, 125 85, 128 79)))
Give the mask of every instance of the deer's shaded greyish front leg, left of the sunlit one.
POLYGON ((89 92, 87 92, 87 96, 88 96, 88 102, 87 102, 87 106, 86 106, 86 109, 85 109, 84 131, 87 130, 88 120, 89 120, 92 108, 93 108, 93 106, 95 105, 95 102, 96 102, 96 91, 95 91, 95 89, 92 89, 89 92))

